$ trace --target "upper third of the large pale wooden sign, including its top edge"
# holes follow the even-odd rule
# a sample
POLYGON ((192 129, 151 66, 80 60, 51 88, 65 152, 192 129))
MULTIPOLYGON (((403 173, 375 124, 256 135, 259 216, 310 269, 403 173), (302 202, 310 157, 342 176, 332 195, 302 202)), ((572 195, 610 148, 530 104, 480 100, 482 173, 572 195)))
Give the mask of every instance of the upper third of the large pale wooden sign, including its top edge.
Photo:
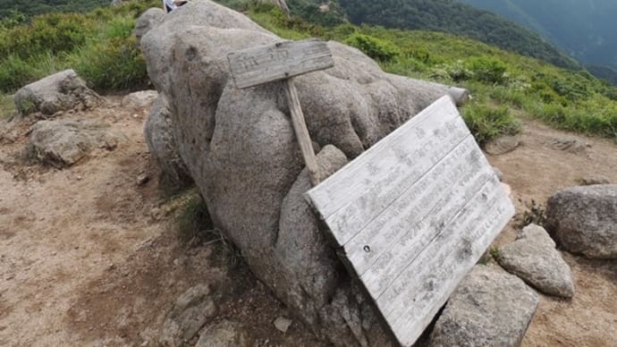
POLYGON ((335 235, 343 245, 379 212, 375 199, 392 202, 467 136, 456 107, 442 97, 306 195, 327 224, 356 225, 335 235))

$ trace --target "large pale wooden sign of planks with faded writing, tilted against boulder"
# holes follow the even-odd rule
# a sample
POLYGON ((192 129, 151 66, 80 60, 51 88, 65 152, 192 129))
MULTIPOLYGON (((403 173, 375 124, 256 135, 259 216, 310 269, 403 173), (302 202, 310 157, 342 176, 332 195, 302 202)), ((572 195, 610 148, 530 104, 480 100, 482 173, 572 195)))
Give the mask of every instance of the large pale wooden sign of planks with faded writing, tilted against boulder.
POLYGON ((514 214, 450 97, 306 193, 403 346, 514 214))

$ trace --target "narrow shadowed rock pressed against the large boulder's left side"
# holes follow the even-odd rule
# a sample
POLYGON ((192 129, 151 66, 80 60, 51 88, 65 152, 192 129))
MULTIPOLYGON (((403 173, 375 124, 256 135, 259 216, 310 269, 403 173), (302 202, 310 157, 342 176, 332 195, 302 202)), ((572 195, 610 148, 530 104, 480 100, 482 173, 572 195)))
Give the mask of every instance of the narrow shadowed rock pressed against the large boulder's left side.
POLYGON ((150 108, 148 120, 144 126, 144 136, 150 156, 155 159, 161 169, 159 185, 170 193, 189 187, 193 183, 178 153, 172 131, 172 119, 167 100, 159 96, 150 108))

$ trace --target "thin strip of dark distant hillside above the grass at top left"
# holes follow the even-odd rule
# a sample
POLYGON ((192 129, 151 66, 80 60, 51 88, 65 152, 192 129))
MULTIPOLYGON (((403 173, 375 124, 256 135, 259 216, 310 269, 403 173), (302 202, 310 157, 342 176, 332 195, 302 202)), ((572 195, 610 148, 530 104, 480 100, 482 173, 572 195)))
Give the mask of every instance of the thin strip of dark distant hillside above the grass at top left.
POLYGON ((17 11, 26 16, 50 12, 87 12, 111 0, 0 0, 0 19, 17 11))

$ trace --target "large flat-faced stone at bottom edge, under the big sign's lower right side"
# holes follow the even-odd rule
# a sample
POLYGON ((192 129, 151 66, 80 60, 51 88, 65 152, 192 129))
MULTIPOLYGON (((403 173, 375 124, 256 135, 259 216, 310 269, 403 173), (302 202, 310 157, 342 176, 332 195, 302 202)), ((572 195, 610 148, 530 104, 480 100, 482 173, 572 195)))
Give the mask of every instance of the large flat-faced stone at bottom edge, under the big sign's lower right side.
POLYGON ((519 346, 539 297, 518 277, 476 266, 437 319, 429 346, 519 346))

